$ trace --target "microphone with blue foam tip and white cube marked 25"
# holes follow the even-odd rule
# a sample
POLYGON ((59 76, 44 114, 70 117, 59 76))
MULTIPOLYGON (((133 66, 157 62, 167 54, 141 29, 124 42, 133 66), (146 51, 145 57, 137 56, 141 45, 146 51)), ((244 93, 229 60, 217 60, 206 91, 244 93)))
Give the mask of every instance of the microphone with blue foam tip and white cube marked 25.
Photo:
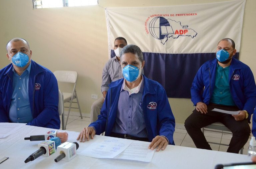
POLYGON ((40 157, 41 155, 48 157, 55 153, 55 149, 59 145, 60 138, 58 137, 53 137, 52 140, 45 140, 38 144, 38 150, 31 154, 24 162, 28 163, 29 161, 33 161, 40 157))

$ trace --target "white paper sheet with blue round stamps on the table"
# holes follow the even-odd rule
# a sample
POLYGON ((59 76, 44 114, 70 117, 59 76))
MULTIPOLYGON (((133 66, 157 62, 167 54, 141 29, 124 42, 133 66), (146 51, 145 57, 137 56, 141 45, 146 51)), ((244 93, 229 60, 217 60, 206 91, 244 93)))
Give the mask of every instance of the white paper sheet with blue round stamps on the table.
POLYGON ((114 158, 124 151, 133 140, 98 137, 93 141, 94 143, 79 154, 95 158, 114 158))

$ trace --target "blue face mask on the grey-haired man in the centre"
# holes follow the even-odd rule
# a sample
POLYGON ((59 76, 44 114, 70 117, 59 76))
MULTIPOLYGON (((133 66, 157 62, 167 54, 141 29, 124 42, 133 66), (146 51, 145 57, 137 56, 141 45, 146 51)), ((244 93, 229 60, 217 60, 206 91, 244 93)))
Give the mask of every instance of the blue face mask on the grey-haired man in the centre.
POLYGON ((133 65, 127 65, 126 67, 124 67, 123 68, 124 78, 129 82, 135 81, 139 76, 140 67, 137 68, 136 66, 133 66, 133 65))

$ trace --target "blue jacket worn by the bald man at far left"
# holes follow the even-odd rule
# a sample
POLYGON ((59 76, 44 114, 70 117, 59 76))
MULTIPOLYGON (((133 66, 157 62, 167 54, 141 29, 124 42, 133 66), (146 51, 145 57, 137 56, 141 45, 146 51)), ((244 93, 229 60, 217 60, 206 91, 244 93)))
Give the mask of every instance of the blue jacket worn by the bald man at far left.
MULTIPOLYGON (((9 120, 9 107, 12 98, 12 71, 10 64, 0 70, 0 122, 9 120)), ((28 81, 28 95, 33 120, 27 125, 60 128, 58 113, 58 83, 51 71, 31 60, 28 81)))

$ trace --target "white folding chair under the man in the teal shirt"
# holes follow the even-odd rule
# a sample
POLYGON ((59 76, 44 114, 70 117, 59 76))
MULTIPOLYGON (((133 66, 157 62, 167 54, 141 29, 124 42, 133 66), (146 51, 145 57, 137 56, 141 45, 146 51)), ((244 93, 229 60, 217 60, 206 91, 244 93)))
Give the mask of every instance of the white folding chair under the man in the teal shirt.
MULTIPOLYGON (((204 133, 204 131, 213 131, 213 132, 218 132, 218 133, 222 133, 222 134, 232 134, 232 132, 228 129, 228 127, 226 127, 221 122, 215 122, 215 123, 212 123, 208 126, 203 127, 202 132, 204 133), (207 129, 207 128, 209 128, 210 130, 207 129), (211 129, 214 129, 214 130, 211 130, 211 129), (219 131, 217 131, 217 130, 219 130, 219 131)), ((215 142, 210 142, 210 141, 207 141, 207 142, 212 143, 212 144, 219 144, 219 145, 229 146, 228 144, 215 143, 215 142)), ((241 148, 240 154, 243 154, 243 149, 244 149, 244 147, 241 148)))

